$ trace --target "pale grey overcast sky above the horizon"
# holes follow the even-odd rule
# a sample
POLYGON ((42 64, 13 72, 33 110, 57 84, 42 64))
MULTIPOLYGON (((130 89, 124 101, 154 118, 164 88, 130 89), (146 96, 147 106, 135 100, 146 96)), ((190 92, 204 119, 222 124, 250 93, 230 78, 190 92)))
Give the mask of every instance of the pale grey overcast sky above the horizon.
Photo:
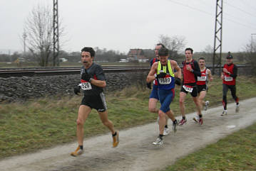
MULTIPOLYGON (((1 0, 0 52, 22 50, 26 18, 38 4, 53 0, 1 0)), ((58 13, 65 28, 62 50, 83 46, 119 50, 154 48, 159 35, 184 36, 196 52, 213 47, 215 0, 60 0, 58 13)), ((256 1, 223 0, 222 51, 238 52, 256 41, 256 1)))

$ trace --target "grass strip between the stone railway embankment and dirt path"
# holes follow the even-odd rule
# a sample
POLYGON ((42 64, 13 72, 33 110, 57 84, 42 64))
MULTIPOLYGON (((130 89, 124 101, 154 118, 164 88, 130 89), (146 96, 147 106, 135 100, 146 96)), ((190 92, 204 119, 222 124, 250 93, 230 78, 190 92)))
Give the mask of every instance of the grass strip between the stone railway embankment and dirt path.
MULTIPOLYGON (((237 96, 247 99, 256 96, 256 79, 238 77, 237 96)), ((178 93, 170 105, 176 116, 180 116, 178 93)), ((155 121, 156 114, 148 111, 149 89, 131 87, 122 91, 108 92, 108 116, 118 129, 129 128, 155 121)), ((0 158, 33 152, 76 140, 76 117, 82 96, 46 97, 24 103, 0 104, 0 158)), ((206 97, 210 107, 222 104, 222 83, 215 77, 206 97)), ((232 101, 230 93, 228 101, 232 101)), ((187 96, 187 113, 194 111, 192 98, 187 96), (189 107, 191 106, 191 108, 189 107)), ((228 105, 228 104, 227 104, 228 105)), ((85 124, 85 136, 106 133, 98 114, 93 110, 85 124)))

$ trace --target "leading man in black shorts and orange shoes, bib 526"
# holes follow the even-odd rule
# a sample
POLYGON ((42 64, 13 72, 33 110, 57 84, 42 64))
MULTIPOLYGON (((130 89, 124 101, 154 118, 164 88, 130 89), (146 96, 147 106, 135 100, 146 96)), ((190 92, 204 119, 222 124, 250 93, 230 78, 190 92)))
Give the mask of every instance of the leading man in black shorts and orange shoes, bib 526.
POLYGON ((91 113, 92 109, 96 109, 101 118, 102 123, 108 127, 113 137, 113 147, 118 143, 118 131, 115 131, 113 123, 108 120, 107 106, 103 87, 106 87, 105 75, 102 67, 93 62, 95 51, 93 48, 85 47, 81 50, 81 84, 74 88, 75 94, 83 89, 83 99, 78 110, 78 118, 76 120, 76 136, 78 140, 78 148, 71 153, 78 156, 83 153, 83 124, 91 113))

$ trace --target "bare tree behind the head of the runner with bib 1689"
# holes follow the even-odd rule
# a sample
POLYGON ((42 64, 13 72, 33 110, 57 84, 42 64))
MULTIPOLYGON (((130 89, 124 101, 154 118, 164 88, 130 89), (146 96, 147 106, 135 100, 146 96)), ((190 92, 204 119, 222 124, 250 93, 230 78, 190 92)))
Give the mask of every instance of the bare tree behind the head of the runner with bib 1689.
POLYGON ((159 35, 159 43, 163 43, 163 45, 170 50, 170 57, 177 59, 180 57, 179 53, 181 53, 185 47, 185 37, 178 35, 172 37, 159 35))

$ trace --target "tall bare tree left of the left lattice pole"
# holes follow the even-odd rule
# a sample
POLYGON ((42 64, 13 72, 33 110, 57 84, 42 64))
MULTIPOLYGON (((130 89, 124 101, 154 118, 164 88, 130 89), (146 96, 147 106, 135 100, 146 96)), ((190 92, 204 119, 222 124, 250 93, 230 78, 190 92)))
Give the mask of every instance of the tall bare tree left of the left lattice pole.
POLYGON ((53 13, 48 6, 38 5, 26 20, 26 46, 41 67, 48 66, 53 47, 53 13))

